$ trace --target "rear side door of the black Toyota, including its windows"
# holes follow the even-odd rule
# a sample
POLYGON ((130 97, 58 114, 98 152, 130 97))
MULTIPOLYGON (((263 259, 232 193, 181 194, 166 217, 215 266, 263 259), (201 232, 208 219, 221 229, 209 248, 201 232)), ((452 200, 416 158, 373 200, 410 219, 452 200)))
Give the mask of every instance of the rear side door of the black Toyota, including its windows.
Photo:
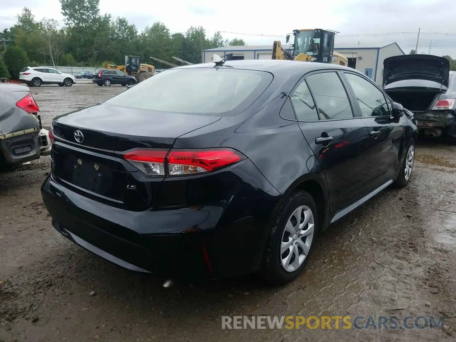
POLYGON ((335 213, 368 192, 368 129, 335 71, 301 79, 290 99, 325 173, 330 211, 335 213))

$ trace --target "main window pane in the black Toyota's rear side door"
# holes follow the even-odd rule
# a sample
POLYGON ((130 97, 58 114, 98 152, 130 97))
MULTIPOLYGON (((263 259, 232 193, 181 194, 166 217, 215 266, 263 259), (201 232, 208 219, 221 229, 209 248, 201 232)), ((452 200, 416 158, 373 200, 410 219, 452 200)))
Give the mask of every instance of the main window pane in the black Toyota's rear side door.
POLYGON ((337 73, 317 73, 306 78, 321 120, 353 118, 352 107, 337 73))

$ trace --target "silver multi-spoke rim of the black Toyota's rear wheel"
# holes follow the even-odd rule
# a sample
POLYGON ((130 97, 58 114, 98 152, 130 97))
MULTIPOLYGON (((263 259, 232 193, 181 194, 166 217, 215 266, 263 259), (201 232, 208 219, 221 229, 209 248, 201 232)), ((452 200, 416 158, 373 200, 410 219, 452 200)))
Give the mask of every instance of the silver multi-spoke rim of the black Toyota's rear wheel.
POLYGON ((287 272, 298 269, 312 245, 314 216, 311 208, 300 206, 288 219, 280 242, 280 262, 287 272))

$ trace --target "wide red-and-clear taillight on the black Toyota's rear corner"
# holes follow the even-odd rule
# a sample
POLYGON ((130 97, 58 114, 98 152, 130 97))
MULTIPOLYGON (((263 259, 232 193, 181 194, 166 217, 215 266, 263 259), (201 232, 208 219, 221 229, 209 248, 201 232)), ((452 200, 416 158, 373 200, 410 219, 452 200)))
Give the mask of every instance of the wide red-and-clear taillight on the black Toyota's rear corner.
POLYGON ((201 150, 134 150, 124 159, 147 176, 189 176, 216 171, 246 157, 230 148, 201 150))

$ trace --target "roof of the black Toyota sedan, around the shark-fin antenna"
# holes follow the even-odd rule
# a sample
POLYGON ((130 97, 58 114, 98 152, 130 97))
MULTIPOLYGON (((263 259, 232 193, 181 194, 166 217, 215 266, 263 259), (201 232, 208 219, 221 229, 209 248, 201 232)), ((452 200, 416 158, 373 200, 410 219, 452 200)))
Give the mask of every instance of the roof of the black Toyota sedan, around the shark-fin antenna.
MULTIPOLYGON (((207 62, 203 64, 193 64, 176 67, 177 68, 202 68, 202 67, 214 67, 214 62, 207 62)), ((249 59, 249 60, 240 60, 240 61, 226 61, 223 63, 224 67, 233 67, 236 69, 245 69, 245 70, 259 70, 259 71, 269 71, 271 73, 295 73, 302 72, 308 73, 313 70, 321 69, 340 69, 340 70, 350 70, 358 72, 357 70, 349 67, 343 67, 337 64, 330 63, 316 63, 316 62, 295 62, 295 61, 283 61, 283 60, 274 60, 274 59, 249 59)), ((359 73, 359 72, 358 72, 359 73)))

